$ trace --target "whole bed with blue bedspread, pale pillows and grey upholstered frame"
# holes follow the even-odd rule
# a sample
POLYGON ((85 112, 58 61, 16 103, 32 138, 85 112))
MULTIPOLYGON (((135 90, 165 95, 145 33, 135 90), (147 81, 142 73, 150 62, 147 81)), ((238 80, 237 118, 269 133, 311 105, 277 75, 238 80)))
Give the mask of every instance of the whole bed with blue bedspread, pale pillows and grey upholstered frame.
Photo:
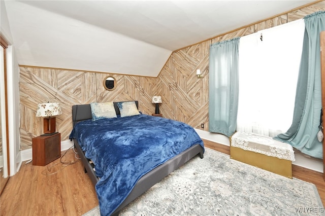
POLYGON ((142 114, 138 101, 109 103, 116 117, 94 117, 104 103, 73 105, 70 139, 95 186, 101 215, 118 215, 188 160, 203 158, 204 145, 189 125, 142 114))

